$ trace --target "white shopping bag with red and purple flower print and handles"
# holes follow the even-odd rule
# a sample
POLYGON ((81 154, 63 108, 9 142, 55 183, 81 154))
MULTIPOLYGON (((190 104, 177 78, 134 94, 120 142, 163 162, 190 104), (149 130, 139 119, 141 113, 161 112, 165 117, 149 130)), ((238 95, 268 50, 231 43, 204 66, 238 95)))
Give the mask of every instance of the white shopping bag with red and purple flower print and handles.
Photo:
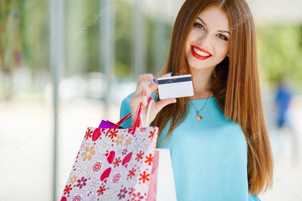
POLYGON ((131 113, 110 128, 87 128, 61 201, 146 200, 159 128, 140 127, 140 112, 133 128, 118 128, 131 113))

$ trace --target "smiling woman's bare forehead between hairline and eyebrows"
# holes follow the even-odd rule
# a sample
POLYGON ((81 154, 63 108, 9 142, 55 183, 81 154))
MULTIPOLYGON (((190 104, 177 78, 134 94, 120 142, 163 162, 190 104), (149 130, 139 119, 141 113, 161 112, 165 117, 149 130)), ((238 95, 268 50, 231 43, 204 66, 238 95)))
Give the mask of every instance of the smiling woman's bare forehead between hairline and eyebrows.
POLYGON ((213 30, 230 29, 229 20, 226 14, 219 8, 208 8, 198 15, 206 24, 207 28, 213 30))

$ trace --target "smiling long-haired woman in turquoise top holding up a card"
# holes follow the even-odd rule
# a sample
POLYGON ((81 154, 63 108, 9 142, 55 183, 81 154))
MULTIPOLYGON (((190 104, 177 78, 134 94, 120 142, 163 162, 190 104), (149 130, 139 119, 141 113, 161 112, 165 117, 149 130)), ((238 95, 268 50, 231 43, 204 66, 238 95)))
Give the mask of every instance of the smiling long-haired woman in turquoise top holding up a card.
POLYGON ((159 77, 191 74, 194 96, 158 100, 156 80, 143 74, 123 100, 120 118, 136 117, 139 104, 146 117, 147 98, 155 99, 147 125, 159 127, 157 147, 171 151, 178 200, 260 200, 272 187, 256 50, 244 0, 186 0, 159 77))

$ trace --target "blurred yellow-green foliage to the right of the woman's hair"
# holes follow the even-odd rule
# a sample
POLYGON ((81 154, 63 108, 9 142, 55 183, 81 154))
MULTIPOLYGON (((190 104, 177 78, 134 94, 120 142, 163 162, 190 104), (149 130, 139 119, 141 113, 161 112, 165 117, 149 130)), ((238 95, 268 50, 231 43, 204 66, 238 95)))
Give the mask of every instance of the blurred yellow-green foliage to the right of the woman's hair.
POLYGON ((257 27, 259 69, 270 81, 302 78, 302 26, 257 27))

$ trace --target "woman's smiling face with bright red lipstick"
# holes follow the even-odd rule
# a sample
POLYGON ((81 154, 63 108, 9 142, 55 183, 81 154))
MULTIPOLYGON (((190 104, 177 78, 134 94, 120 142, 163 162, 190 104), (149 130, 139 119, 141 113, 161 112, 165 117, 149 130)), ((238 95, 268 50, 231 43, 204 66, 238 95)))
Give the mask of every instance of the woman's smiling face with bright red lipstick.
POLYGON ((229 21, 218 8, 202 11, 194 21, 186 41, 185 57, 192 68, 216 67, 230 48, 229 21), (226 31, 226 32, 225 32, 226 31))

